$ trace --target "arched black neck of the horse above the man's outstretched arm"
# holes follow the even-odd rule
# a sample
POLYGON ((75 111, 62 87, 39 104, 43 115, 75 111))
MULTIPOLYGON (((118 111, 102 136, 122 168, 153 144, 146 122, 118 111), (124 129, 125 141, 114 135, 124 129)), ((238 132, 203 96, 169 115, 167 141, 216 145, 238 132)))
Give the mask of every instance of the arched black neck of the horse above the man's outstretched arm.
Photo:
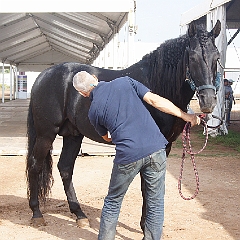
POLYGON ((180 99, 180 90, 185 79, 184 52, 187 41, 186 36, 168 40, 155 51, 145 55, 139 62, 122 70, 121 74, 136 79, 153 92, 175 103, 184 102, 180 99), (182 71, 178 73, 176 69, 179 68, 182 71))

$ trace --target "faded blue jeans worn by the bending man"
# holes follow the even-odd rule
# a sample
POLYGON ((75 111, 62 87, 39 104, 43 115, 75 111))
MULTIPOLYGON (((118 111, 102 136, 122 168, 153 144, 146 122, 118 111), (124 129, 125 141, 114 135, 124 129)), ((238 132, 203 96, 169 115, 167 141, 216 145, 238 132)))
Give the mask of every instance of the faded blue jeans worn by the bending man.
POLYGON ((113 165, 108 195, 102 209, 98 240, 114 240, 123 197, 141 172, 146 188, 144 240, 159 240, 164 220, 166 152, 161 149, 136 162, 113 165))

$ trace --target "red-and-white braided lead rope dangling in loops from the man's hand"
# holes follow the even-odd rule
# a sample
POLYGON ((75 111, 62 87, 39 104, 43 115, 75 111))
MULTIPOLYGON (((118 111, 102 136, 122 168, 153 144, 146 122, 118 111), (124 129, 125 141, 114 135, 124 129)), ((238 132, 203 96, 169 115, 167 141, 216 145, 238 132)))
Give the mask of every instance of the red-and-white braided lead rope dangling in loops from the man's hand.
POLYGON ((199 117, 201 118, 201 124, 205 128, 205 134, 206 134, 205 144, 202 147, 202 149, 200 149, 198 152, 193 152, 192 151, 192 146, 191 146, 191 142, 190 142, 190 128, 191 128, 191 123, 190 122, 187 122, 185 124, 184 129, 183 129, 183 133, 182 133, 183 154, 182 154, 180 176, 179 176, 179 179, 178 179, 178 191, 179 191, 180 196, 184 200, 194 199, 198 195, 198 192, 199 192, 199 176, 198 176, 198 171, 197 171, 194 155, 203 151, 203 149, 207 145, 207 140, 208 140, 208 126, 207 126, 207 123, 204 121, 204 119, 201 115, 199 117), (182 194, 182 189, 181 189, 182 176, 183 176, 183 166, 184 166, 184 163, 185 163, 186 153, 191 155, 191 161, 192 161, 194 174, 195 174, 195 178, 196 178, 196 190, 195 190, 195 193, 191 197, 184 197, 183 194, 182 194))

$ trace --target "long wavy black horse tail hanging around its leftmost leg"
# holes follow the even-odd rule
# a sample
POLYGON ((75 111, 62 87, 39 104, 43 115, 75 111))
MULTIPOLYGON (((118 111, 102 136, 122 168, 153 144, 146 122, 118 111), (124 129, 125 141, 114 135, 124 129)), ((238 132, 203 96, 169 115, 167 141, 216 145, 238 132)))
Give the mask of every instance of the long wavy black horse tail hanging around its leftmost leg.
POLYGON ((32 112, 32 102, 30 100, 29 109, 28 109, 28 117, 27 117, 27 137, 28 137, 28 148, 27 148, 27 158, 26 158, 26 177, 27 177, 27 195, 30 197, 31 183, 30 183, 30 174, 37 174, 37 184, 38 184, 38 197, 41 201, 45 202, 47 196, 51 191, 51 187, 53 185, 53 177, 52 177, 52 156, 51 151, 49 150, 46 158, 42 163, 42 169, 37 171, 37 160, 34 159, 33 149, 36 143, 36 129, 34 126, 33 120, 33 112, 32 112))

